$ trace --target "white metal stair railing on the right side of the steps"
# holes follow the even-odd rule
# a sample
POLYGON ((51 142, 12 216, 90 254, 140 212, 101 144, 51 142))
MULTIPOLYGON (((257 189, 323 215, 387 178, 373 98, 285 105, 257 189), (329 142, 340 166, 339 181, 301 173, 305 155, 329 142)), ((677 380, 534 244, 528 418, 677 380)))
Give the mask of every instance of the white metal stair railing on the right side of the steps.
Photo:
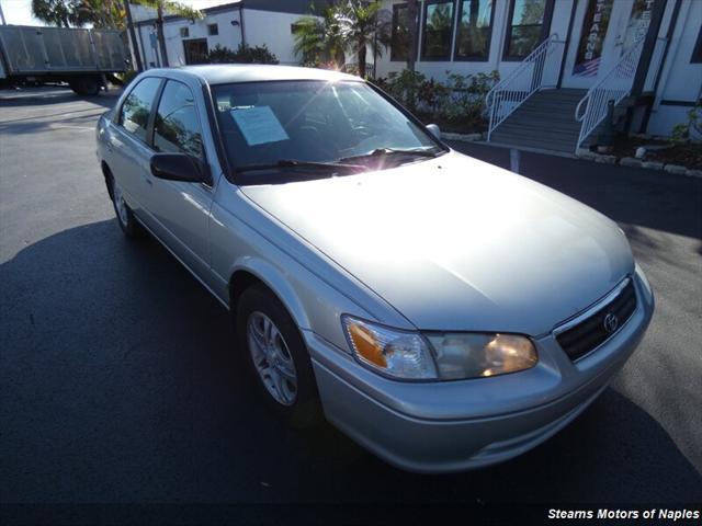
POLYGON ((578 103, 575 108, 575 119, 582 124, 576 149, 604 121, 609 102, 613 101, 613 104, 616 105, 631 93, 643 48, 644 38, 642 37, 601 80, 588 90, 578 103), (584 104, 586 104, 585 112, 581 111, 584 104))

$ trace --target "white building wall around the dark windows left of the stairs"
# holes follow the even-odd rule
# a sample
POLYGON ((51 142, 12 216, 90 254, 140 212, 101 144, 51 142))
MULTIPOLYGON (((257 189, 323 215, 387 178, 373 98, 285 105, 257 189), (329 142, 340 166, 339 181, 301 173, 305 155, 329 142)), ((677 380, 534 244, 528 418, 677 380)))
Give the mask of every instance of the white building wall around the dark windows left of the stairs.
MULTIPOLYGON (((460 1, 460 0, 458 0, 460 1)), ((568 22, 570 20, 570 10, 575 0, 556 0, 554 5, 553 20, 551 23, 550 33, 557 33, 562 39, 565 39, 568 32, 568 22)), ((404 3, 399 0, 383 0, 383 8, 392 12, 393 4, 404 3)), ((490 42, 490 52, 487 61, 422 61, 417 60, 416 68, 418 71, 424 73, 427 77, 433 77, 437 80, 443 81, 446 78, 446 70, 451 72, 457 72, 462 75, 475 75, 475 73, 489 73, 497 69, 500 76, 505 78, 509 75, 519 62, 502 61, 502 53, 505 47, 505 35, 507 31, 509 14, 509 0, 495 0, 495 15, 492 20, 492 34, 490 42)), ((418 5, 420 18, 423 15, 423 2, 418 5)), ((457 11, 458 3, 455 2, 454 7, 454 31, 452 49, 455 44, 456 26, 457 26, 457 11)), ((419 38, 419 57, 421 57, 421 27, 423 27, 423 20, 421 20, 419 38)), ((378 77, 387 77, 390 71, 401 71, 406 67, 404 61, 390 61, 390 50, 387 49, 383 53, 383 56, 378 59, 376 66, 376 75, 378 77)))

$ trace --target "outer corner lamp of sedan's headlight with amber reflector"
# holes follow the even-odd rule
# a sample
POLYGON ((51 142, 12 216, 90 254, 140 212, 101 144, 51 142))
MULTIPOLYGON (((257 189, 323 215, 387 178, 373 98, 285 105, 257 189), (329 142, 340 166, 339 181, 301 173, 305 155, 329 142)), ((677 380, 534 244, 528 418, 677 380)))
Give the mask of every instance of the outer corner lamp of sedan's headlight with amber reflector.
POLYGON ((427 341, 416 332, 341 318, 349 345, 366 366, 395 378, 437 379, 437 366, 427 341))

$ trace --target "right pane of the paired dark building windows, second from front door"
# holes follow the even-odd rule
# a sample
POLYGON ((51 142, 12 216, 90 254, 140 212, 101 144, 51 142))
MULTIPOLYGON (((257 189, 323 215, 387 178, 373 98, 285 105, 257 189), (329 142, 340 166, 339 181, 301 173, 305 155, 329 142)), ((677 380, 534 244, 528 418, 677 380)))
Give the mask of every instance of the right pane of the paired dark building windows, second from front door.
POLYGON ((492 36, 494 0, 458 2, 456 59, 487 60, 492 36))

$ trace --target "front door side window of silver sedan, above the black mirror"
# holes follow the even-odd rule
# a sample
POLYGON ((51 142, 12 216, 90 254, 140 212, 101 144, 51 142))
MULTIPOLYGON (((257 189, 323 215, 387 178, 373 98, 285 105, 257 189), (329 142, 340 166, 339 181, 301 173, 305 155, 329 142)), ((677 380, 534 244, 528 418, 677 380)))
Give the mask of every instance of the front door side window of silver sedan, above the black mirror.
POLYGON ((154 148, 204 158, 195 101, 185 84, 173 80, 166 84, 156 113, 154 148))

